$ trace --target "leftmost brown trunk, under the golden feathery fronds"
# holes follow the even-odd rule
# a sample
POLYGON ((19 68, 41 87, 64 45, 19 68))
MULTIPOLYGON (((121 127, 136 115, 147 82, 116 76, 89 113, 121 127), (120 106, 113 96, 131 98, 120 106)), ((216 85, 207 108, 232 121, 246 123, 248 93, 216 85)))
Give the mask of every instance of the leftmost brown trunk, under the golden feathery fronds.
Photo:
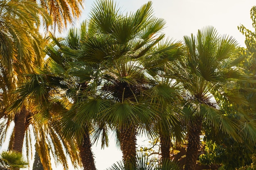
POLYGON ((25 107, 22 107, 20 113, 15 115, 14 119, 14 137, 12 149, 22 153, 22 146, 25 137, 25 132, 27 129, 26 124, 27 110, 25 107))

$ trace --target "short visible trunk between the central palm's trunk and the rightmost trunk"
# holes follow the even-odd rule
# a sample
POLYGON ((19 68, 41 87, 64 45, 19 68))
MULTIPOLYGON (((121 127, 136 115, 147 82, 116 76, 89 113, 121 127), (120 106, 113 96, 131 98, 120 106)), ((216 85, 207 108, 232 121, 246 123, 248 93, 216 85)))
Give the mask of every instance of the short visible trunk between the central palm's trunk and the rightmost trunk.
POLYGON ((170 159, 170 148, 171 148, 171 136, 168 133, 160 132, 160 146, 162 160, 170 159))

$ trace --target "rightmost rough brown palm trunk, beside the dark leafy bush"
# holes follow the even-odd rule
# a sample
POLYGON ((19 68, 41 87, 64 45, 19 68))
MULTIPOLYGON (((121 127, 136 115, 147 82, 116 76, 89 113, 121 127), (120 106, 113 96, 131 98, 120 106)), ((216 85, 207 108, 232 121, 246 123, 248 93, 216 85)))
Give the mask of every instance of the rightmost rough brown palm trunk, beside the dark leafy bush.
POLYGON ((196 119, 193 124, 188 127, 188 145, 186 150, 186 163, 184 170, 196 170, 196 161, 198 159, 198 150, 200 149, 200 135, 202 129, 202 121, 196 119))

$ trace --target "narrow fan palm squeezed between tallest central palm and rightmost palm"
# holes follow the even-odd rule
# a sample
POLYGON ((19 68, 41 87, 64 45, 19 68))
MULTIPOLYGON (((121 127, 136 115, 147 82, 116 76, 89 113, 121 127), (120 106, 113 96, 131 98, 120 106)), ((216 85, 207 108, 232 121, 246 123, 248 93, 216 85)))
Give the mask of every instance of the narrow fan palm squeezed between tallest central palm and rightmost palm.
POLYGON ((175 141, 177 144, 184 138, 178 114, 181 102, 180 89, 172 71, 176 62, 181 59, 183 50, 180 42, 166 41, 160 43, 155 51, 150 60, 145 60, 144 66, 153 77, 148 96, 152 104, 157 106, 159 119, 153 125, 160 137, 161 156, 164 161, 170 159, 172 142, 175 141))

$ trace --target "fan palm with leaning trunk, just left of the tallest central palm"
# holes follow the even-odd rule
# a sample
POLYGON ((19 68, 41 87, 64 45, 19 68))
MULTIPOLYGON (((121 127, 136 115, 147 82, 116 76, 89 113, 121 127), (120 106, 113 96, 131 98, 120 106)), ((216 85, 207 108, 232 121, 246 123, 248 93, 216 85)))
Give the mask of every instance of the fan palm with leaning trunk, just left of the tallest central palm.
MULTIPOLYGON (((21 86, 17 92, 20 94, 20 100, 24 101, 28 97, 29 99, 33 99, 36 106, 40 106, 40 109, 44 108, 43 110, 54 113, 51 115, 46 113, 50 119, 47 119, 48 121, 45 124, 44 115, 46 114, 40 112, 38 116, 41 115, 40 117, 42 117, 43 115, 43 122, 38 124, 38 126, 43 124, 44 127, 49 128, 49 131, 53 129, 54 132, 60 135, 58 137, 61 138, 62 142, 73 139, 74 146, 78 145, 79 147, 76 150, 79 152, 78 155, 81 158, 84 169, 93 170, 96 168, 89 136, 92 117, 89 116, 87 111, 84 111, 82 114, 85 115, 88 121, 83 122, 83 124, 79 119, 74 117, 77 107, 79 108, 79 104, 77 103, 80 100, 86 99, 83 94, 93 92, 93 87, 88 85, 94 79, 93 67, 76 58, 76 53, 80 48, 81 37, 86 34, 85 31, 87 30, 85 23, 83 23, 79 30, 70 29, 66 38, 57 39, 54 35, 51 35, 53 42, 46 49, 49 58, 45 67, 38 69, 33 75, 29 75, 29 81, 21 86), (59 102, 62 108, 56 109, 59 102)), ((34 124, 33 126, 36 125, 34 124)), ((45 128, 39 132, 41 133, 43 130, 45 128)), ((55 139, 53 143, 59 145, 60 142, 55 139)), ((40 146, 45 146, 45 144, 38 143, 38 148, 40 146)), ((70 154, 72 155, 72 152, 70 154)), ((75 156, 76 154, 72 155, 73 158, 78 158, 75 156)))

